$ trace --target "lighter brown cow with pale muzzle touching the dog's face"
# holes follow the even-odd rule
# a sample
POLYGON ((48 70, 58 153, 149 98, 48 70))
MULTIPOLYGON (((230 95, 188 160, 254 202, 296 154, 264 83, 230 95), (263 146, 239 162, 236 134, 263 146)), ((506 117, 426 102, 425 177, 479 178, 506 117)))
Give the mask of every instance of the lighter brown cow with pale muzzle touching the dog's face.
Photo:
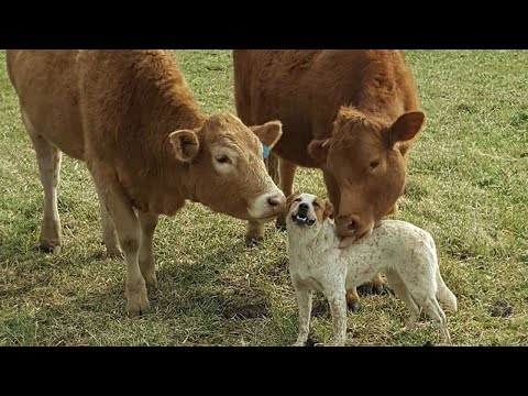
POLYGON ((258 222, 284 210, 261 144, 278 141, 280 123, 253 127, 253 133, 232 114, 206 117, 168 54, 8 51, 7 62, 44 186, 41 246, 61 246, 64 152, 86 161, 94 177, 107 253, 119 254, 119 245, 124 252, 132 316, 148 308, 145 282, 156 283, 158 215, 175 215, 186 199, 258 222))

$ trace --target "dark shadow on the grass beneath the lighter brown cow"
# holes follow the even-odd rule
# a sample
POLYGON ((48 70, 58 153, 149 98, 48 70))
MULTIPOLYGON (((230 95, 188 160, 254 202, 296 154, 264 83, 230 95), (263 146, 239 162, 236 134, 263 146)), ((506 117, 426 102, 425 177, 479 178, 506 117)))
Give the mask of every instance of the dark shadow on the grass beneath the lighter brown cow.
MULTIPOLYGON (((164 320, 178 315, 224 319, 267 317, 270 306, 264 293, 232 279, 227 271, 228 263, 238 260, 243 250, 241 245, 224 245, 197 262, 172 262, 158 267, 157 287, 147 290, 151 310, 145 318, 156 316, 158 320, 164 320)), ((112 261, 122 265, 122 280, 112 282, 105 292, 89 293, 77 299, 73 309, 127 317, 124 260, 112 261)))

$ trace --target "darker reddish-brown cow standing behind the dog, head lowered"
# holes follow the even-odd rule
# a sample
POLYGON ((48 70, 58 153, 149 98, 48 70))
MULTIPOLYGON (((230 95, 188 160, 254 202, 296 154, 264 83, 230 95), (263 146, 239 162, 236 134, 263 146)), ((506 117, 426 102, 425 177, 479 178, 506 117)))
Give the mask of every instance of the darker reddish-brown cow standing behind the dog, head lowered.
MULTIPOLYGON (((274 153, 284 194, 293 193, 298 165, 321 168, 338 232, 355 238, 372 232, 396 209, 407 152, 425 120, 404 53, 237 50, 233 61, 241 120, 283 123, 274 153)), ((284 217, 277 224, 285 226, 284 217)), ((262 235, 262 226, 250 222, 248 237, 262 235)))

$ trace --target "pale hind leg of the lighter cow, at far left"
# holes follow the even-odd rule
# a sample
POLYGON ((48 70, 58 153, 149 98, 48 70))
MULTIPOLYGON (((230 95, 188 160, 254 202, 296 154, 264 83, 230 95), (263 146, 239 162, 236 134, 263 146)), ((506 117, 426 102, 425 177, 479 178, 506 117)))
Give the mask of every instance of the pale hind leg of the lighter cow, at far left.
POLYGON ((43 252, 59 253, 62 237, 57 208, 57 189, 61 178, 62 152, 44 136, 34 133, 31 123, 25 117, 23 117, 23 120, 35 148, 38 173, 44 188, 44 218, 38 246, 43 252))

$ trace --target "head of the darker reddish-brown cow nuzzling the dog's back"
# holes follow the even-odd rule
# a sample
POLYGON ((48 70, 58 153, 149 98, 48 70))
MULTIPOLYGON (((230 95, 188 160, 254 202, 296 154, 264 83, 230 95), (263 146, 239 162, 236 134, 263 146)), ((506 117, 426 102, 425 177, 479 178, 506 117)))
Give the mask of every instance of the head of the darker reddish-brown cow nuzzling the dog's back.
POLYGON ((308 151, 339 187, 336 226, 341 237, 361 238, 385 217, 405 187, 406 161, 398 148, 421 129, 425 114, 402 114, 392 124, 350 108, 340 109, 330 139, 308 151))

